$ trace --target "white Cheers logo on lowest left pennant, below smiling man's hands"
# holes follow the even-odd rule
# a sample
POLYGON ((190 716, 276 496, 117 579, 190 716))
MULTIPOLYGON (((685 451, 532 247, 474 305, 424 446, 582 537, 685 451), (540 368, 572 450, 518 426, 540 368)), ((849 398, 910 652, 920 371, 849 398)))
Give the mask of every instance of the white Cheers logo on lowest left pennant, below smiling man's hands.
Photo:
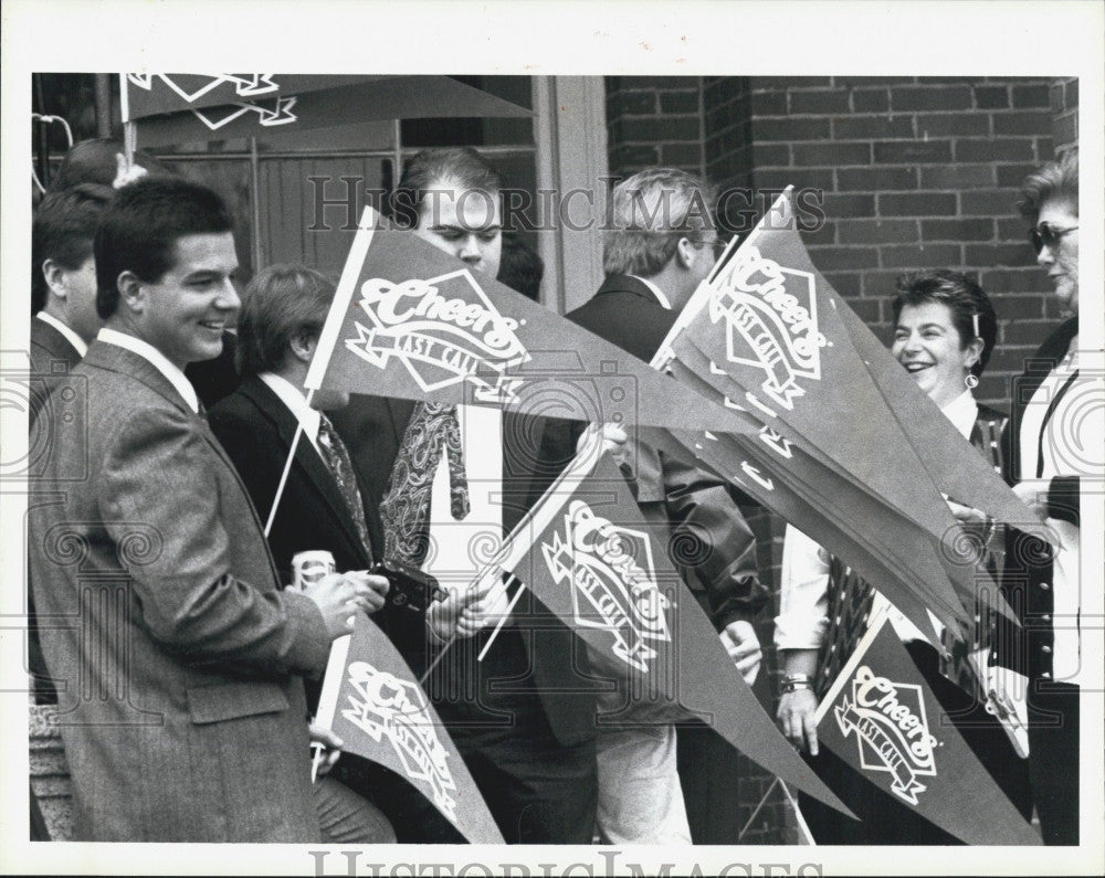
POLYGON ((377 743, 387 738, 407 777, 415 786, 420 782, 428 786, 442 814, 456 823, 456 782, 445 762, 449 751, 438 738, 422 690, 367 662, 351 663, 348 673, 354 692, 347 691, 350 707, 341 716, 377 743))

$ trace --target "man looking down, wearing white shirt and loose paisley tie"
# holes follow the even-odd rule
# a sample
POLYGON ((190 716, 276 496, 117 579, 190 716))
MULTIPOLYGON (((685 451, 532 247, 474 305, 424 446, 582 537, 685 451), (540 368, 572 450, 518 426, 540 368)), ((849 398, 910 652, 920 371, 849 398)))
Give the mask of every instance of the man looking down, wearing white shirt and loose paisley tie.
MULTIPOLYGON (((495 276, 499 189, 498 174, 474 150, 424 150, 403 169, 397 221, 462 260, 476 278, 495 276)), ((589 844, 597 801, 594 696, 582 645, 573 654, 570 632, 527 596, 483 662, 475 660, 488 635, 483 625, 505 600, 502 592, 464 595, 466 576, 477 570, 469 547, 481 531, 498 539, 520 518, 525 490, 514 482, 522 472, 512 462, 516 449, 488 441, 514 431, 504 429, 495 410, 358 396, 335 415, 369 489, 383 497, 388 557, 428 563, 454 586, 453 596, 428 614, 434 654, 457 635, 428 690, 504 837, 589 844), (433 435, 446 447, 438 445, 427 465, 419 437, 439 430, 433 435), (435 551, 428 558, 431 541, 435 551)))

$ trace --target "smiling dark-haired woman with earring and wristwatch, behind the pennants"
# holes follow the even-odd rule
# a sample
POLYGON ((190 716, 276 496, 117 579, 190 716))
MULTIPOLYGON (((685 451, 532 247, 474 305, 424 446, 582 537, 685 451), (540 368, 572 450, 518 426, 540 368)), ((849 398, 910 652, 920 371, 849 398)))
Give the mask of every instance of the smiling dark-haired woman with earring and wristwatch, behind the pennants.
MULTIPOLYGON (((997 337, 993 306, 975 281, 955 272, 936 271, 906 275, 898 281, 894 300, 892 352, 917 384, 951 421, 964 438, 986 454, 998 467, 998 437, 1006 417, 975 401, 978 385, 997 337)), ((970 454, 964 447, 964 454, 970 454)), ((1000 467, 998 467, 1000 468, 1000 467)), ((974 510, 953 506, 969 521, 974 510)), ((982 536, 992 539, 992 528, 981 523, 982 536)), ((775 644, 782 670, 782 694, 778 720, 782 732, 799 748, 808 750, 823 780, 833 784, 865 784, 841 771, 835 758, 820 752, 817 736, 819 699, 832 685, 832 676, 846 655, 830 655, 829 614, 834 595, 839 600, 844 581, 855 574, 801 531, 788 526, 783 543, 780 613, 776 618, 775 644), (835 573, 831 582, 830 571, 835 573)), ((853 583, 854 586, 854 583, 853 583)), ((835 615, 835 613, 833 614, 835 615)), ((998 721, 982 707, 981 691, 967 692, 941 676, 955 668, 941 668, 941 658, 929 643, 941 632, 936 627, 926 637, 902 613, 893 611, 891 623, 906 644, 947 715, 976 755, 1001 785, 1025 818, 1031 816, 1028 768, 1014 752, 998 721)), ((966 664, 967 646, 959 645, 966 664)), ((960 683, 962 671, 958 668, 960 683)), ((969 674, 968 674, 969 676, 969 674)), ((835 786, 833 787, 838 793, 835 786)), ((833 816, 803 797, 803 813, 819 844, 955 844, 955 839, 885 796, 848 796, 859 803, 862 823, 833 816), (870 806, 870 807, 869 807, 870 806)))

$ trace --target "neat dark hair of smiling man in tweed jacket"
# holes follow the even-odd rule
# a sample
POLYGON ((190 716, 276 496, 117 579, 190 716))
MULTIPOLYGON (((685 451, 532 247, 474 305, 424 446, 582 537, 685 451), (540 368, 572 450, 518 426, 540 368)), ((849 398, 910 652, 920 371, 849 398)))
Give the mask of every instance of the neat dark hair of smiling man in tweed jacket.
POLYGON ((233 229, 225 203, 206 186, 144 177, 123 187, 96 231, 96 311, 105 320, 115 314, 123 272, 134 272, 147 284, 160 281, 176 260, 177 239, 233 229))

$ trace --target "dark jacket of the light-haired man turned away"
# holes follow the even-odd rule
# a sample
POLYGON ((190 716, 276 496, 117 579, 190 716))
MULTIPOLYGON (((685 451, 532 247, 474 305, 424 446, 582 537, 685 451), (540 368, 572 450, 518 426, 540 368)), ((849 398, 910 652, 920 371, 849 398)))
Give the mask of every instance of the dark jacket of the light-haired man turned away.
MULTIPOLYGON (((678 311, 664 308, 649 287, 633 277, 611 275, 599 292, 580 308, 566 315, 578 324, 641 360, 650 361, 675 322, 678 311)), ((672 403, 690 392, 673 383, 672 403)), ((578 426, 550 423, 543 458, 566 461, 575 451, 578 426)), ((687 584, 707 605, 720 630, 730 622, 751 621, 768 601, 756 565, 756 541, 737 508, 736 491, 725 482, 664 454, 639 447, 638 503, 653 521, 666 520, 673 531, 704 543, 688 554, 703 560, 682 567, 687 584), (656 456, 650 462, 648 458, 656 456), (656 474, 651 477, 650 474, 656 474), (704 600, 704 597, 706 600, 704 600)), ((535 483, 536 488, 543 487, 535 483)), ((678 564, 677 559, 672 559, 678 564)))

